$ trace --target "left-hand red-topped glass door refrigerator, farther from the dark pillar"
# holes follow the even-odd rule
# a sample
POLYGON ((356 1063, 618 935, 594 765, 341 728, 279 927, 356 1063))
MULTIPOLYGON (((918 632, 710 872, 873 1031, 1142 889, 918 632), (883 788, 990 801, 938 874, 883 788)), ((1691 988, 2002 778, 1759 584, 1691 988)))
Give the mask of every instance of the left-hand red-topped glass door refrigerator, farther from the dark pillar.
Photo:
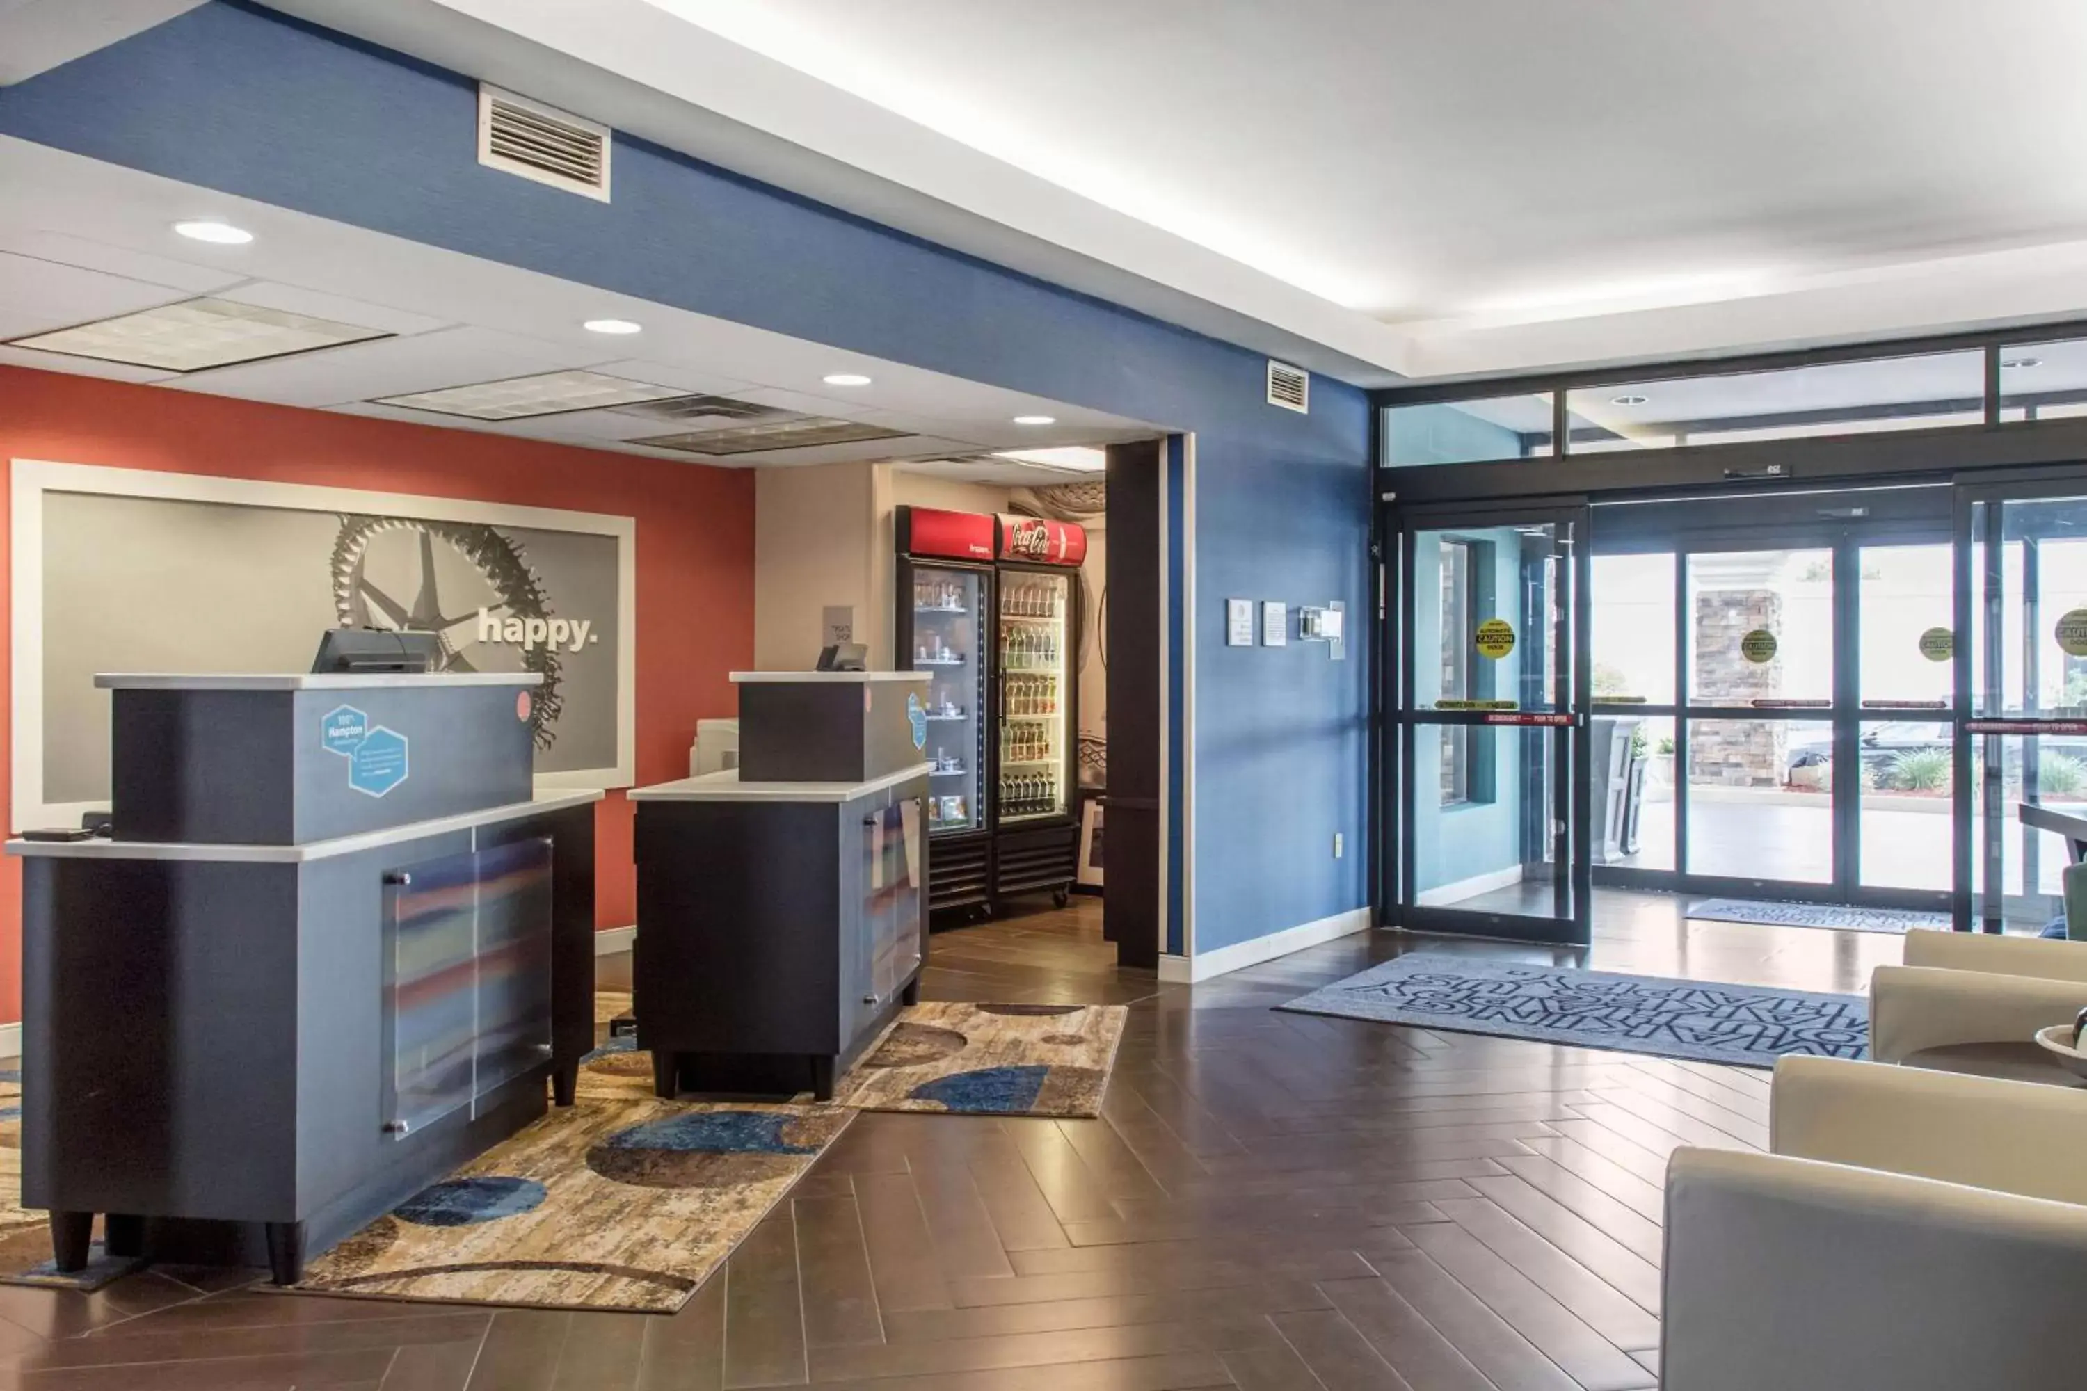
POLYGON ((929 911, 989 911, 993 517, 899 507, 893 669, 927 672, 929 911))

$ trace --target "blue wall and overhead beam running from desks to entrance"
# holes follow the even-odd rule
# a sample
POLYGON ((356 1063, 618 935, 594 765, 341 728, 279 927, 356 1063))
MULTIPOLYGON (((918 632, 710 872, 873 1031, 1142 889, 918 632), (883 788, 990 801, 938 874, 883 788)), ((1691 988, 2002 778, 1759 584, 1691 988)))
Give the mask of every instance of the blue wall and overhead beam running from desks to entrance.
POLYGON ((1196 947, 1367 903, 1363 392, 1269 407, 1246 348, 643 140, 616 140, 614 202, 576 198, 482 169, 474 129, 474 79, 236 0, 0 90, 6 136, 1194 432, 1196 947), (1344 599, 1348 661, 1227 651, 1227 594, 1344 599))

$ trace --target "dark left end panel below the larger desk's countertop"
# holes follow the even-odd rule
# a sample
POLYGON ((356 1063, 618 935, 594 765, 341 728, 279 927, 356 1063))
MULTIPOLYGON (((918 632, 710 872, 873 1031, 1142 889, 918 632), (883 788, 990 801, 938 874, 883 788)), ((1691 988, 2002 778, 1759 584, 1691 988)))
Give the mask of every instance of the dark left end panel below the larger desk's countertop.
POLYGON ((25 1205, 296 1216, 296 876, 23 863, 25 1205))

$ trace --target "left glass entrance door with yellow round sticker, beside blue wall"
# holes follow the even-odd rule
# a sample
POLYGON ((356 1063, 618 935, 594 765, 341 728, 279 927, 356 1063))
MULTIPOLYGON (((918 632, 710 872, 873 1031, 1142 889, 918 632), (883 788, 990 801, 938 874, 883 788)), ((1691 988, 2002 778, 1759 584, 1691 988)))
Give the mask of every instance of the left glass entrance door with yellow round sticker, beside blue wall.
POLYGON ((1398 536, 1400 922, 1586 943, 1586 509, 1413 513, 1398 536))

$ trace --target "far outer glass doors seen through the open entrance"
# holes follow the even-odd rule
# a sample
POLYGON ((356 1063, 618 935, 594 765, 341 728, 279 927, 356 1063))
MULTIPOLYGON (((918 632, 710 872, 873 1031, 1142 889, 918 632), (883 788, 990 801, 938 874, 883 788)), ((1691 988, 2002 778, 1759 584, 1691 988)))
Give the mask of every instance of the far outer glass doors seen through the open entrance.
POLYGON ((1594 882, 1947 909, 1949 490, 1597 507, 1594 551, 1594 882))

